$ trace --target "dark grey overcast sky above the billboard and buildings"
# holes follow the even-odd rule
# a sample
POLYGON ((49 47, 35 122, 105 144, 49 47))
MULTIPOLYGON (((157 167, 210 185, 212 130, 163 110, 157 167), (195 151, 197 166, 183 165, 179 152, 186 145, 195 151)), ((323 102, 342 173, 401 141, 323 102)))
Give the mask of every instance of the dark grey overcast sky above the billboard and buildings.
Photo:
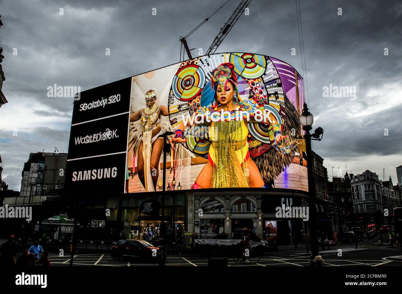
MULTIPOLYGON (((67 152, 73 100, 47 98, 48 86, 87 90, 176 63, 179 36, 224 2, 0 0, 8 100, 0 108, 0 154, 9 189, 20 190, 29 153, 67 152)), ((300 2, 309 108, 313 129, 324 128, 314 151, 329 178, 332 167, 335 176, 338 167, 345 174, 346 163, 348 172, 369 169, 380 179, 385 168, 395 185, 402 165, 402 2, 300 2), (323 97, 330 84, 355 86, 355 99, 323 97)), ((205 53, 239 3, 231 0, 212 16, 188 38, 189 47, 205 53)), ((269 55, 302 73, 295 1, 252 0, 248 8, 216 52, 269 55)))

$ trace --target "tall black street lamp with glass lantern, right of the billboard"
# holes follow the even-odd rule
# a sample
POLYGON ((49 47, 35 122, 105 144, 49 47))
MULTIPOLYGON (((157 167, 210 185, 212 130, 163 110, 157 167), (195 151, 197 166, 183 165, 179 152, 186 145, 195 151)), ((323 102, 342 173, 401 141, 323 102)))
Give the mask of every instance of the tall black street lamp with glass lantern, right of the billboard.
POLYGON ((306 155, 307 155, 307 177, 308 177, 308 200, 311 208, 311 216, 309 220, 309 228, 311 231, 311 266, 315 266, 314 258, 318 255, 318 236, 317 236, 317 206, 316 206, 316 192, 314 186, 314 174, 313 174, 313 155, 311 149, 311 140, 321 141, 324 130, 319 127, 314 134, 310 134, 312 129, 314 117, 308 111, 307 104, 303 105, 303 113, 300 115, 300 123, 303 130, 306 131, 304 139, 306 140, 306 155))

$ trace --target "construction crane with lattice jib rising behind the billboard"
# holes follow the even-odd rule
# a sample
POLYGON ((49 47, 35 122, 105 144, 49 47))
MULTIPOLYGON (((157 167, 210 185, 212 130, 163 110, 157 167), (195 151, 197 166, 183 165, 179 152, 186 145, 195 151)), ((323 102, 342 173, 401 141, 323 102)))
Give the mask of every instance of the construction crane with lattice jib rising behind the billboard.
MULTIPOLYGON (((225 4, 228 3, 229 1, 230 0, 226 1, 225 4)), ((234 10, 232 16, 230 16, 229 20, 225 23, 225 25, 221 28, 221 31, 219 32, 219 34, 213 40, 211 46, 209 46, 209 49, 208 49, 206 55, 215 53, 216 49, 219 47, 219 45, 221 45, 222 41, 228 35, 230 30, 232 29, 232 27, 234 26, 236 21, 239 19, 240 15, 242 15, 244 10, 247 8, 248 4, 250 4, 250 2, 251 2, 251 0, 242 0, 242 2, 240 2, 239 6, 237 6, 236 10, 234 10)), ((219 7, 213 14, 215 14, 219 9, 221 9, 223 6, 225 6, 225 4, 223 4, 221 7, 219 7)), ((193 56, 191 55, 191 50, 194 50, 195 48, 189 49, 189 45, 187 44, 187 40, 186 40, 187 37, 189 37, 199 27, 201 27, 205 22, 207 22, 208 19, 211 16, 213 16, 213 14, 211 14, 209 17, 205 18, 205 20, 203 20, 197 27, 195 27, 195 29, 193 29, 193 31, 188 33, 186 36, 180 37, 180 42, 184 46, 184 49, 185 49, 189 59, 193 59, 193 56)), ((183 54, 184 54, 184 52, 183 52, 183 54)), ((180 50, 180 60, 181 60, 181 50, 180 50)))

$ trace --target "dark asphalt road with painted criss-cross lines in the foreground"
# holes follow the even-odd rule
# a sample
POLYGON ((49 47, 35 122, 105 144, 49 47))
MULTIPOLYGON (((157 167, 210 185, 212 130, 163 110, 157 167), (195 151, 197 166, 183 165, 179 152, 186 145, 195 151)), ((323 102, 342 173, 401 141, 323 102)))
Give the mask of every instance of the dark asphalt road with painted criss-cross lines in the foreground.
MULTIPOLYGON (((371 242, 359 243, 356 251, 353 244, 345 244, 338 247, 320 251, 323 266, 402 266, 402 261, 389 260, 389 256, 401 254, 400 248, 388 247, 388 245, 373 245, 371 242), (342 251, 339 251, 341 249, 342 251)), ((320 248, 321 249, 321 248, 320 248)), ((290 249, 265 253, 260 256, 258 263, 245 261, 235 263, 228 259, 229 266, 310 266, 309 255, 304 249, 290 249)), ((222 255, 218 255, 222 256, 222 255)), ((52 266, 69 266, 69 256, 50 254, 52 266)), ((135 258, 126 258, 113 261, 110 254, 77 253, 73 259, 74 266, 158 266, 158 263, 142 262, 135 258)), ((168 255, 166 266, 207 266, 208 258, 204 255, 176 254, 168 255)))

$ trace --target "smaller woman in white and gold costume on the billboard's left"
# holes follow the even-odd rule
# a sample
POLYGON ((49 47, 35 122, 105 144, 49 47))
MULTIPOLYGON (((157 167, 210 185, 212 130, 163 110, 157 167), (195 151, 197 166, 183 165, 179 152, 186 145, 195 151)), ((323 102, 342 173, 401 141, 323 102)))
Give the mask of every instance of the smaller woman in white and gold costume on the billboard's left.
MULTIPOLYGON (((155 191, 159 175, 159 161, 163 150, 162 133, 171 128, 168 108, 156 104, 156 90, 149 90, 145 95, 146 108, 130 115, 134 122, 133 141, 137 153, 138 177, 147 192, 155 191)), ((128 190, 128 189, 127 189, 128 190)))

